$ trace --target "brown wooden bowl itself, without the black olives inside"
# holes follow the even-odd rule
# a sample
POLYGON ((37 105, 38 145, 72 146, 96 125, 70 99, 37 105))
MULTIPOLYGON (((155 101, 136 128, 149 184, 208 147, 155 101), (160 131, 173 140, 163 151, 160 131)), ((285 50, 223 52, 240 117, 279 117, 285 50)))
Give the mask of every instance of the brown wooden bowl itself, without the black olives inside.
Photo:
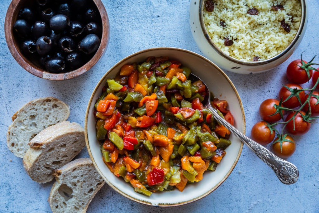
POLYGON ((105 10, 103 3, 100 0, 92 0, 95 5, 97 6, 101 20, 102 20, 102 38, 100 42, 100 47, 94 54, 94 56, 82 67, 65 73, 51 73, 47 72, 43 69, 40 65, 38 65, 35 61, 28 59, 24 54, 22 54, 19 42, 16 39, 16 36, 13 35, 13 25, 18 18, 18 14, 20 9, 27 5, 29 2, 33 2, 35 0, 12 0, 11 4, 9 5, 5 22, 4 22, 4 33, 7 45, 9 50, 14 57, 14 59, 18 62, 20 66, 22 66, 26 71, 30 72, 31 74, 38 76, 43 79, 48 80, 67 80, 74 77, 77 77, 86 71, 90 70, 100 58, 104 55, 105 50, 108 46, 109 40, 109 21, 108 21, 108 14, 105 10))

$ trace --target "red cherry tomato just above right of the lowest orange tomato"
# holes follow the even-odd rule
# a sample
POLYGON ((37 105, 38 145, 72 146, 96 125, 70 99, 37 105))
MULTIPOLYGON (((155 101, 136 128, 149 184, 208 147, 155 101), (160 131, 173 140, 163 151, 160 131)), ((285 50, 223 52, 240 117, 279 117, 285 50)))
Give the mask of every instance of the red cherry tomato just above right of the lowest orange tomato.
MULTIPOLYGON (((288 121, 290 118, 293 117, 293 115, 296 114, 296 112, 291 112, 287 118, 286 121, 288 121)), ((293 119, 295 121, 295 125, 293 126, 293 120, 289 121, 286 128, 287 131, 293 135, 301 135, 309 131, 311 123, 304 121, 302 119, 302 115, 305 115, 306 113, 304 111, 298 112, 296 117, 293 119)))

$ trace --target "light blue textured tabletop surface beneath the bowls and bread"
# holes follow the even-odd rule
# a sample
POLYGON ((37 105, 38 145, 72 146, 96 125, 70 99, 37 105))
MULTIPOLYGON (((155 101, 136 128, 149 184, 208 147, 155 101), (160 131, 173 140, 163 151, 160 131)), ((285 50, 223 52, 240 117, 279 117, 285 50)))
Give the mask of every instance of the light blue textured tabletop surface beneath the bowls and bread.
MULTIPOLYGON (((0 23, 4 26, 10 0, 1 3, 0 23)), ((72 80, 43 80, 23 70, 6 46, 4 28, 0 29, 0 212, 51 212, 47 199, 53 182, 40 185, 32 181, 24 171, 22 159, 15 157, 6 145, 11 116, 24 103, 39 97, 55 96, 70 105, 69 120, 83 126, 93 88, 104 73, 122 58, 152 47, 178 47, 201 54, 190 32, 189 1, 104 0, 103 3, 111 29, 106 54, 93 70, 72 80)), ((226 72, 241 96, 247 135, 250 135, 254 123, 260 120, 259 104, 267 98, 277 98, 281 84, 288 82, 285 71, 289 62, 300 58, 303 51, 305 60, 319 53, 319 2, 309 0, 308 5, 305 37, 285 63, 256 75, 226 72)), ((87 212, 319 212, 318 128, 319 124, 313 124, 307 134, 294 137, 297 149, 288 160, 299 168, 300 176, 293 185, 280 183, 273 171, 244 146, 228 179, 197 202, 172 208, 150 207, 130 201, 105 185, 87 212)), ((78 157, 88 157, 86 148, 78 157)))

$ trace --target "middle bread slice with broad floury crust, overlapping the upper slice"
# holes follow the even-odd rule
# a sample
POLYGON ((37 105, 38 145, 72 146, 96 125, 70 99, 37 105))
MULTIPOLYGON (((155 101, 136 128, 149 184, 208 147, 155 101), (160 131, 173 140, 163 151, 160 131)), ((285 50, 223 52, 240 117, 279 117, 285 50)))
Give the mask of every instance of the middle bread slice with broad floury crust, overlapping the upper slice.
POLYGON ((24 168, 31 179, 46 183, 54 178, 53 170, 69 163, 85 146, 84 128, 63 121, 42 130, 28 144, 24 168))

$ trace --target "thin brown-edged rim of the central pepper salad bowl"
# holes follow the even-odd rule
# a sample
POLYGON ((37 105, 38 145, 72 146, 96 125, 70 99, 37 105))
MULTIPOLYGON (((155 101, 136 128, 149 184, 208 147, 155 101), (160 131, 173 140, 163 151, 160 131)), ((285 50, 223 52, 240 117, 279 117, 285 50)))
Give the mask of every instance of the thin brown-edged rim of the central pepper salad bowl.
POLYGON ((105 182, 111 186, 116 192, 118 192, 119 194, 123 195, 124 197, 126 198, 129 198, 130 200, 132 201, 135 201, 135 202, 138 202, 138 203, 141 203, 141 204, 145 204, 145 205, 149 205, 149 206, 160 206, 160 207, 173 207, 173 206, 181 206, 181 205, 184 205, 184 204, 187 204, 187 203, 191 203, 191 202, 195 202, 199 199, 202 199, 204 198, 205 196, 207 196, 208 194, 210 194, 211 192, 213 192, 215 189, 217 189, 227 178, 228 176, 230 175, 230 173, 234 170, 238 160, 239 160, 239 157, 241 156, 241 152, 242 152, 242 149, 243 149, 243 142, 241 142, 241 145, 240 145, 240 148, 239 148, 239 152, 238 152, 238 155, 235 159, 235 162, 234 164, 232 165, 231 169, 225 174, 224 178, 220 180, 220 182, 215 186, 215 187, 212 187, 208 192, 206 192, 205 194, 202 194, 196 198, 194 198, 193 200, 188 200, 188 201, 185 201, 185 202, 180 202, 180 203, 173 203, 173 204, 152 204, 150 202, 146 202, 144 200, 139 200, 139 199, 136 199, 134 197, 131 197, 130 195, 128 194, 125 194, 124 192, 122 192, 121 190, 119 190, 117 187, 115 187, 110 181, 108 181, 108 179, 106 178, 106 176, 104 174, 102 174, 102 172, 100 171, 100 169, 98 168, 97 164, 95 163, 94 161, 94 158, 93 158, 93 155, 92 155, 92 152, 91 152, 91 148, 90 148, 90 144, 89 144, 89 140, 88 140, 88 131, 87 131, 87 125, 88 125, 88 115, 89 115, 89 112, 90 112, 90 107, 91 107, 91 104, 93 103, 93 96, 96 94, 98 88, 100 87, 100 85, 102 84, 102 82, 105 82, 105 79, 107 78, 108 74, 115 69, 115 67, 117 67, 118 65, 122 64, 124 61, 127 61, 129 60, 131 57, 135 57, 141 53, 144 53, 144 52, 152 52, 154 50, 163 50, 163 49, 166 49, 166 50, 177 50, 177 51, 184 51, 184 52, 187 52, 189 54, 192 54, 193 56, 195 57, 200 57, 201 59, 204 59, 205 61, 207 61, 208 63, 210 63, 211 65, 213 65, 225 78, 226 80, 230 83, 236 97, 237 97, 237 100, 240 104, 240 108, 241 108, 241 113, 242 113, 242 121, 243 121, 243 133, 245 134, 246 132, 246 119, 245 119, 245 113, 244 113, 244 108, 243 108, 243 104, 241 102, 241 98, 238 94, 238 91, 236 90, 233 82, 228 78, 228 76, 225 74, 225 72, 223 72, 217 65, 215 65, 213 62, 211 62, 209 59, 195 53, 195 52, 192 52, 190 50, 186 50, 186 49, 181 49, 181 48, 174 48, 174 47, 157 47, 157 48, 150 48, 150 49, 144 49, 144 50, 141 50, 141 51, 138 51, 136 53, 133 53, 125 58, 123 58, 122 60, 120 60, 119 62, 117 62, 114 66, 112 66, 104 75, 103 77, 100 79, 100 81, 97 83, 96 87, 94 88, 93 92, 92 92, 92 95, 89 99, 89 103, 88 103, 88 106, 87 106, 87 109, 86 109, 86 113, 85 113, 85 123, 84 123, 84 131, 85 131, 85 144, 86 144, 86 148, 87 148, 87 151, 88 151, 88 154, 93 162, 93 165, 95 166, 96 170, 100 173, 101 177, 105 180, 105 182))

